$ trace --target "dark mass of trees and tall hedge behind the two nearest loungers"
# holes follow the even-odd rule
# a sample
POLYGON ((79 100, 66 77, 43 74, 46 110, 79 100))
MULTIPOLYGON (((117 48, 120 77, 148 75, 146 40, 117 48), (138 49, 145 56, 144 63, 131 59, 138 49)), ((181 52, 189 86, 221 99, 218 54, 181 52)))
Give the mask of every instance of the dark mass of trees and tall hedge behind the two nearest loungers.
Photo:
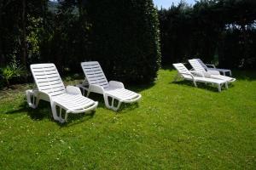
POLYGON ((81 72, 81 61, 98 60, 110 78, 154 80, 160 67, 160 44, 152 0, 60 0, 56 8, 48 3, 52 4, 1 1, 2 66, 15 55, 26 68, 53 62, 65 73, 81 72))

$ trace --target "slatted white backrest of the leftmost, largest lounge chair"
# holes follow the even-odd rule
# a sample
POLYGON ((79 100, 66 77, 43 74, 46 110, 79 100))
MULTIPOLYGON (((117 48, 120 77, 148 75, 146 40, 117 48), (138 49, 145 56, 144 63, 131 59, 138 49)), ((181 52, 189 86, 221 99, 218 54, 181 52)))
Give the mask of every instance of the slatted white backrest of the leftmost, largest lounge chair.
POLYGON ((39 91, 57 96, 66 93, 66 88, 61 81, 59 72, 55 64, 35 64, 30 65, 32 76, 39 91))

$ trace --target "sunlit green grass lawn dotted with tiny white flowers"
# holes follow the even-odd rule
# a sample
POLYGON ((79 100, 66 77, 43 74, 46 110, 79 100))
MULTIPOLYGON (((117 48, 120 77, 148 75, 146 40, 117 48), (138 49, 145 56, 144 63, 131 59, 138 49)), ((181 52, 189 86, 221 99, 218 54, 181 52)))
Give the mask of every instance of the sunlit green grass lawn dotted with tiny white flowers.
MULTIPOLYGON (((138 105, 70 115, 60 125, 49 103, 28 108, 25 89, 0 92, 0 169, 255 169, 256 73, 234 72, 228 90, 172 80, 126 87, 138 105)), ((73 84, 78 81, 67 81, 73 84)))

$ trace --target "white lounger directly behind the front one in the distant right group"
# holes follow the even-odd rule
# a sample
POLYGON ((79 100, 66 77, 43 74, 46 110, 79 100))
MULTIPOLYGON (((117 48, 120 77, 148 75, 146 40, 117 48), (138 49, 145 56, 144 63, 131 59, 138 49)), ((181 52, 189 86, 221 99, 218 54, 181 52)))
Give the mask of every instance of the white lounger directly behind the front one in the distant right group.
POLYGON ((219 74, 218 71, 206 71, 197 59, 189 59, 189 64, 194 69, 194 71, 191 71, 191 72, 193 72, 199 77, 217 78, 217 79, 225 80, 227 82, 236 81, 236 78, 222 76, 219 74))

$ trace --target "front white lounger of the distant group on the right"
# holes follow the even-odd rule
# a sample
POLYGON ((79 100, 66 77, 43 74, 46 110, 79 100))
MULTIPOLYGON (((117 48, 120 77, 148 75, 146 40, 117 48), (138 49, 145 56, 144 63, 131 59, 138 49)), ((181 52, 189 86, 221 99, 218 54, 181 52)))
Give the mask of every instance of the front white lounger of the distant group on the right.
MULTIPOLYGON (((189 70, 182 63, 172 64, 172 65, 176 68, 178 72, 177 77, 182 77, 185 80, 192 81, 195 87, 197 87, 196 82, 205 82, 205 83, 211 83, 211 84, 217 85, 218 92, 221 92, 221 87, 223 85, 225 85, 225 88, 228 88, 228 82, 224 80, 207 78, 207 77, 196 77, 196 76, 193 76, 192 73, 189 72, 189 70)), ((175 78, 175 81, 177 80, 177 77, 175 78)))

